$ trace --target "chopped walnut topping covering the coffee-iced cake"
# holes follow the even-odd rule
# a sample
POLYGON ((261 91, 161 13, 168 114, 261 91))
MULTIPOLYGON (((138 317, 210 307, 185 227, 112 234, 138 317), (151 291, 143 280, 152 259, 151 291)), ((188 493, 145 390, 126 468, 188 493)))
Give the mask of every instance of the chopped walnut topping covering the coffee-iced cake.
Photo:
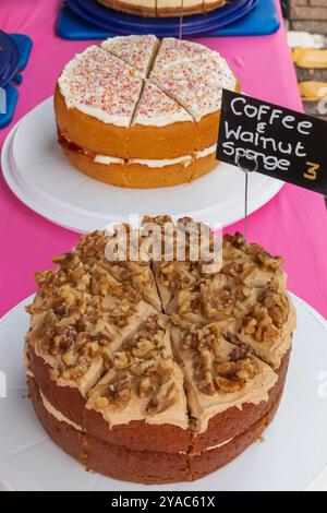
MULTIPOLYGON (((164 232, 164 224, 172 219, 144 222, 159 224, 164 232)), ((169 234, 172 261, 132 262, 129 248, 125 261, 109 262, 105 248, 110 238, 119 237, 118 231, 112 236, 96 231, 82 237, 73 251, 55 256, 56 270, 36 274, 39 291, 28 308, 28 341, 49 361, 53 379, 78 383, 99 363, 106 379, 90 393, 99 409, 121 409, 138 397, 144 415, 157 415, 174 404, 179 381, 168 327, 171 335, 179 333, 177 345, 186 355, 185 368, 192 362, 196 385, 207 395, 240 391, 259 372, 249 349, 235 344, 256 341, 274 350, 283 334, 290 303, 280 284, 282 259, 235 234, 223 238, 221 271, 211 267, 205 274, 201 255, 191 258, 199 227, 190 226, 191 222, 180 219, 169 234), (186 241, 182 262, 174 260, 179 236, 186 241), (167 297, 168 311, 175 314, 154 314, 142 322, 143 312, 149 311, 146 303, 160 308, 156 284, 167 297)), ((128 231, 135 232, 135 241, 145 237, 142 229, 128 227, 128 231)), ((206 241, 211 249, 210 234, 206 241)))

